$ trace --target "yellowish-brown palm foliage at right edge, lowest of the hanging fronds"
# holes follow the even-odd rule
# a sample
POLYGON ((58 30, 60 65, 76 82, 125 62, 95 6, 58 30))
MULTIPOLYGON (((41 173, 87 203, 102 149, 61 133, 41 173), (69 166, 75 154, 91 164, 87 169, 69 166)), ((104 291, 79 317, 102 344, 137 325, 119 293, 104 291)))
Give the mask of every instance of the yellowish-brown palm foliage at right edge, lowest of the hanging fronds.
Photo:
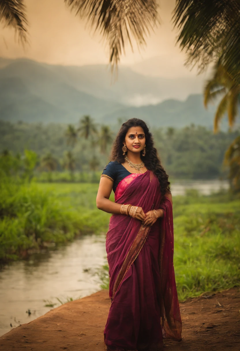
POLYGON ((240 191, 240 136, 235 138, 225 153, 224 164, 229 167, 228 178, 232 191, 240 191))

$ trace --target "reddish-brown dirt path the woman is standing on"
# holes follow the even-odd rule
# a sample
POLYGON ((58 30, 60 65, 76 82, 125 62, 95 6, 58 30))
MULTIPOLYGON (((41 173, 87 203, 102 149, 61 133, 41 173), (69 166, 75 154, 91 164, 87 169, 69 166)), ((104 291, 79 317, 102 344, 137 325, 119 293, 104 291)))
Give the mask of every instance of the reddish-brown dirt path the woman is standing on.
MULTIPOLYGON (((103 351, 110 299, 102 290, 69 302, 0 337, 0 350, 103 351)), ((182 342, 165 341, 166 351, 240 350, 240 289, 180 304, 182 342)))

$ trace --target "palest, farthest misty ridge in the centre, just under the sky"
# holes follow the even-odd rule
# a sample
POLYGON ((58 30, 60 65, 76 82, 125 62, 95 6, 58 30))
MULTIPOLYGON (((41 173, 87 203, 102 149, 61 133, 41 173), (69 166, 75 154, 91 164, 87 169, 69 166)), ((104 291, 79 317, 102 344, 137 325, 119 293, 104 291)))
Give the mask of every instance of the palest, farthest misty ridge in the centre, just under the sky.
POLYGON ((199 77, 161 78, 134 72, 120 66, 117 80, 111 77, 106 65, 48 66, 68 84, 100 99, 124 105, 157 104, 165 99, 184 100, 190 93, 202 93, 199 77))

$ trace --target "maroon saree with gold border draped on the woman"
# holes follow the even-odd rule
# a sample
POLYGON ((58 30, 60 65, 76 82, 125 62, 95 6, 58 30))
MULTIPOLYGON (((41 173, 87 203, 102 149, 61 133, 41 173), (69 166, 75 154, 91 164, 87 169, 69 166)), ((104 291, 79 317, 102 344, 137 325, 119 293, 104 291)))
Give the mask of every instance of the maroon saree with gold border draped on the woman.
POLYGON ((173 267, 172 203, 161 196, 152 171, 132 173, 118 184, 115 202, 163 208, 152 226, 113 214, 106 237, 111 307, 105 350, 159 351, 163 338, 181 340, 181 317, 173 267))

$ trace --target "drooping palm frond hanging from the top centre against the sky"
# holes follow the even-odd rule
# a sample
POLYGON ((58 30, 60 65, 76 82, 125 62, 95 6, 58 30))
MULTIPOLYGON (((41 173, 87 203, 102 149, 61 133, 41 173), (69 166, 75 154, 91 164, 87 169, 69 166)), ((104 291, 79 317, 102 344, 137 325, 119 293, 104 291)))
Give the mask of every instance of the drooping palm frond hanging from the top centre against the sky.
POLYGON ((158 21, 156 0, 64 0, 76 15, 99 29, 109 45, 109 62, 116 68, 125 44, 145 44, 145 36, 158 21))

